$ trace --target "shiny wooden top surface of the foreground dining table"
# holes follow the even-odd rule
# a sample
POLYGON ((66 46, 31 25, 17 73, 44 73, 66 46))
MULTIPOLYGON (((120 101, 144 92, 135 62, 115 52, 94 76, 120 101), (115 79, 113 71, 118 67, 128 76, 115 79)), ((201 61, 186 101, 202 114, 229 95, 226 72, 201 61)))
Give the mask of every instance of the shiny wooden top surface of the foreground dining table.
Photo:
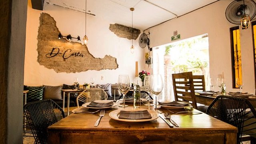
MULTIPOLYGON (((138 122, 138 123, 131 123, 131 122, 121 122, 110 118, 108 115, 109 112, 117 109, 129 110, 132 109, 133 106, 129 106, 125 109, 116 106, 110 110, 106 110, 105 116, 102 117, 101 122, 98 127, 94 127, 94 123, 99 118, 99 112, 96 114, 89 114, 89 113, 78 113, 78 114, 70 114, 66 118, 60 120, 59 122, 53 124, 52 126, 48 127, 48 130, 102 130, 102 129, 111 129, 111 130, 156 130, 156 129, 187 129, 187 130, 202 130, 202 129, 211 129, 212 132, 214 130, 234 130, 236 128, 217 120, 207 114, 173 114, 171 118, 178 123, 180 127, 178 128, 170 128, 160 117, 156 120, 152 120, 149 122, 138 122)), ((147 106, 142 106, 142 108, 148 108, 147 106)), ((153 107, 151 106, 150 109, 153 107)), ((163 112, 168 112, 166 109, 161 109, 163 112)), ((172 111, 180 111, 180 110, 172 110, 172 111)), ((193 111, 198 111, 193 109, 193 111)))

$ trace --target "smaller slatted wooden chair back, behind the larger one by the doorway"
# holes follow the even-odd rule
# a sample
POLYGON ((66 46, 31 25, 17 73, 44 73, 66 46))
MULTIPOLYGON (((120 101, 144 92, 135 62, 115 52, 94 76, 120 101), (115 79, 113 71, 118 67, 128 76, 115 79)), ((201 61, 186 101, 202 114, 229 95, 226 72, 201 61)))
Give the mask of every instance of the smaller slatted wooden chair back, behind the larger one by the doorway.
POLYGON ((193 82, 195 92, 205 91, 204 75, 194 75, 193 82))

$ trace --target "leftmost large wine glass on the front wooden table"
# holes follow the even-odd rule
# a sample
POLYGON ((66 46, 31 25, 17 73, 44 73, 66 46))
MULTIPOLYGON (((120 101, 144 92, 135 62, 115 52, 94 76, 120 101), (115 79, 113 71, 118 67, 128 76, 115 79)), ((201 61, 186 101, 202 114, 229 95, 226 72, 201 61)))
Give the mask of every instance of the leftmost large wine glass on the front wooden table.
POLYGON ((130 78, 127 74, 125 75, 119 75, 118 76, 118 90, 120 90, 120 92, 123 94, 123 104, 119 105, 119 107, 127 107, 127 105, 125 105, 125 96, 126 93, 130 90, 130 78))

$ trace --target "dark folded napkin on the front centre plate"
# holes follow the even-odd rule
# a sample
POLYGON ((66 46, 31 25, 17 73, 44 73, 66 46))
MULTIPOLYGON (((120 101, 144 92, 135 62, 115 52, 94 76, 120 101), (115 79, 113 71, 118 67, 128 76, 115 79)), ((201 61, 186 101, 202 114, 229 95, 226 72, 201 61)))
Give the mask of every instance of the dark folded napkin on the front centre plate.
POLYGON ((150 119, 152 118, 152 116, 149 114, 148 110, 138 110, 138 111, 132 111, 132 112, 121 110, 118 118, 140 120, 140 119, 150 119))

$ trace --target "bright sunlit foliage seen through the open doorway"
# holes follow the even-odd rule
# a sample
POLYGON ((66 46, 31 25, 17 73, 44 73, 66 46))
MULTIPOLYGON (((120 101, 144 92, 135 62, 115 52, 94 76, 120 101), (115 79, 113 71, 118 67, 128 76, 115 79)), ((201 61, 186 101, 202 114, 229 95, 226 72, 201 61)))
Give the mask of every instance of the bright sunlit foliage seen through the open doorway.
POLYGON ((208 38, 196 38, 166 46, 165 55, 171 56, 173 71, 192 71, 194 74, 205 75, 205 68, 209 65, 208 38))

